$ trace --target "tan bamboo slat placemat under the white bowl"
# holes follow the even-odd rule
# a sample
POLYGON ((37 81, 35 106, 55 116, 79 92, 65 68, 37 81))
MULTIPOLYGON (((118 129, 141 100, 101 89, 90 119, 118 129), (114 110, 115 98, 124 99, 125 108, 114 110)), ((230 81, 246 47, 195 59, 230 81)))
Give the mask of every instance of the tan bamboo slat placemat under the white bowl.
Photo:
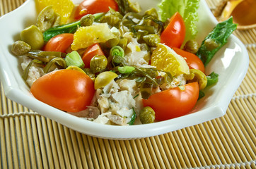
MULTIPOLYGON (((24 1, 0 0, 0 15, 24 1)), ((156 137, 90 137, 6 99, 1 86, 0 168, 256 168, 256 30, 234 35, 250 65, 226 115, 156 137)))

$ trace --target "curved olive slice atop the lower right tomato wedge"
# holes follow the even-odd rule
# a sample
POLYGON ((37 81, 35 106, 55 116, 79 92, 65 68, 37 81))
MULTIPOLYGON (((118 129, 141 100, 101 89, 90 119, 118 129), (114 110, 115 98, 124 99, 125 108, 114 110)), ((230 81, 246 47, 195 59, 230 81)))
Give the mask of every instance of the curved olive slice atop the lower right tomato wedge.
POLYGON ((206 87, 207 77, 201 70, 190 69, 190 75, 185 75, 185 77, 187 82, 198 82, 200 90, 206 87))

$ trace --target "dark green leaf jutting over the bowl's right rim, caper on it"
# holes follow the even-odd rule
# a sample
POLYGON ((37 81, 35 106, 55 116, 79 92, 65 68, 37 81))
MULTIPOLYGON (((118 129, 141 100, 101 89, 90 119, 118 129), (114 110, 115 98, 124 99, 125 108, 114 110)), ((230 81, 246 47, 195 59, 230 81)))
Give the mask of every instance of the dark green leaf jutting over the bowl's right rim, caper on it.
POLYGON ((214 57, 217 51, 228 42, 228 37, 236 29, 237 24, 233 23, 233 18, 218 23, 214 30, 203 40, 197 56, 207 65, 214 57))

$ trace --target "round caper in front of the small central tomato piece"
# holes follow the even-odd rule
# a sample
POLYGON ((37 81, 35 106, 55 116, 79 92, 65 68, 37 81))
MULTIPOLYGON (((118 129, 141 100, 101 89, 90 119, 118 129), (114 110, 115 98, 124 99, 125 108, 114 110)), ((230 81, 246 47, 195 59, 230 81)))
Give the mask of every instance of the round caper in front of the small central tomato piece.
POLYGON ((91 58, 90 68, 93 73, 99 73, 107 67, 107 58, 103 55, 96 55, 91 58))

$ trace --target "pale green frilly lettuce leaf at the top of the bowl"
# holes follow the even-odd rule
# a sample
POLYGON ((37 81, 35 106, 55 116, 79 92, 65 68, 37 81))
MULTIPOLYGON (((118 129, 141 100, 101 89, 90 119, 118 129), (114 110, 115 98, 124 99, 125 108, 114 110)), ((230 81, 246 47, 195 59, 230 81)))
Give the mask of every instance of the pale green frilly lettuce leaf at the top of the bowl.
POLYGON ((187 40, 194 39, 197 35, 196 23, 199 19, 197 12, 199 1, 200 0, 162 0, 161 3, 158 4, 158 13, 163 22, 172 17, 174 13, 180 13, 186 27, 184 43, 187 42, 187 40))

